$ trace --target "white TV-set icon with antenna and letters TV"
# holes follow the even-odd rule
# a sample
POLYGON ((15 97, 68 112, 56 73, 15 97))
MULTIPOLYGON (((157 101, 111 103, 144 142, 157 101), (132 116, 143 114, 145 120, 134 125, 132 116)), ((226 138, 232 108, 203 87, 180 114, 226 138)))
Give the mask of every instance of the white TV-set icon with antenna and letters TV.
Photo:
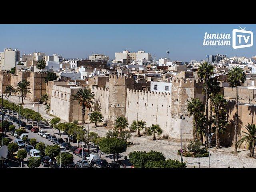
MULTIPOLYGON (((240 27, 240 26, 239 26, 240 27)), ((232 47, 233 49, 251 47, 253 45, 252 31, 246 31, 245 28, 233 29, 232 31, 232 47)))

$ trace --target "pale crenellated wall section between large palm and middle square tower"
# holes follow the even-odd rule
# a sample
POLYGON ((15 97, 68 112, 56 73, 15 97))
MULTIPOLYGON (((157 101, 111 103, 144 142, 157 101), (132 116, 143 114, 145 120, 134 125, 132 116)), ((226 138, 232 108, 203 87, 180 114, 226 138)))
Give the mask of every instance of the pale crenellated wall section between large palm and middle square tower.
POLYGON ((108 88, 92 86, 92 92, 95 95, 95 99, 98 99, 101 104, 101 113, 104 119, 108 120, 108 88))

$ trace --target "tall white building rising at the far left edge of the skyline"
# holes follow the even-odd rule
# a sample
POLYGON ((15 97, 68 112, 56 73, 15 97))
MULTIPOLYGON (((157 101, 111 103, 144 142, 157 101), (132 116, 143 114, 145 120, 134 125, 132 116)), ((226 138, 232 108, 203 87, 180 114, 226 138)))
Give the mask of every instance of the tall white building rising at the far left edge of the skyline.
POLYGON ((20 51, 18 49, 4 49, 4 52, 0 52, 0 66, 2 70, 10 70, 14 68, 16 62, 20 61, 20 51))

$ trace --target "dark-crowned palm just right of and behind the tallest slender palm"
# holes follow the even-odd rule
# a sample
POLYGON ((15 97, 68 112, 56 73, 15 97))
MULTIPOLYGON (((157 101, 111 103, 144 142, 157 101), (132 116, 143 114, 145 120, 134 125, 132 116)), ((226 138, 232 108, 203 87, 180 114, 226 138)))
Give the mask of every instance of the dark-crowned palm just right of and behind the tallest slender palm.
MULTIPOLYGON (((220 82, 218 82, 217 78, 210 77, 208 81, 208 89, 209 89, 209 98, 210 98, 210 114, 209 114, 209 133, 212 133, 212 97, 214 97, 217 93, 220 92, 220 82)), ((205 84, 204 84, 204 92, 205 92, 205 84)))

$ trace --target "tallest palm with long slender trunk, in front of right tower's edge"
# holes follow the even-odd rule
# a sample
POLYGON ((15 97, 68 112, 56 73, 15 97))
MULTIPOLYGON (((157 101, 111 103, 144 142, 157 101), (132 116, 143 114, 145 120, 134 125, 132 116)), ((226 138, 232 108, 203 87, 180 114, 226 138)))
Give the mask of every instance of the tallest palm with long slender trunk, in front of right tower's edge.
POLYGON ((214 66, 211 64, 208 64, 208 62, 204 62, 198 67, 198 77, 202 80, 204 80, 205 83, 205 96, 206 96, 206 102, 205 102, 205 114, 206 114, 206 147, 208 147, 208 141, 207 141, 207 134, 208 134, 208 81, 210 78, 210 75, 213 74, 214 66))

